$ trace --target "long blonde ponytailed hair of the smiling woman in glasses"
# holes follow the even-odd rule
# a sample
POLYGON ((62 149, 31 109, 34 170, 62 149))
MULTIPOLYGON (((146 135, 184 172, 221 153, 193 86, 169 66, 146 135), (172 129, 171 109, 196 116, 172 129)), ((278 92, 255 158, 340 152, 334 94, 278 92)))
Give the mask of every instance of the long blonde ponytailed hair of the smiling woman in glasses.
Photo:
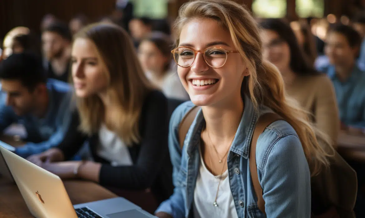
POLYGON ((250 75, 242 82, 241 92, 247 94, 255 109, 266 105, 293 126, 301 141, 312 175, 317 175, 322 166, 328 166, 329 155, 319 145, 316 135, 333 151, 328 138, 310 123, 308 113, 297 102, 289 99, 284 90, 284 81, 278 69, 262 60, 262 43, 259 28, 250 12, 230 0, 196 0, 185 3, 179 10, 174 24, 176 45, 180 32, 191 19, 208 18, 219 22, 230 32, 239 54, 247 63, 250 75))

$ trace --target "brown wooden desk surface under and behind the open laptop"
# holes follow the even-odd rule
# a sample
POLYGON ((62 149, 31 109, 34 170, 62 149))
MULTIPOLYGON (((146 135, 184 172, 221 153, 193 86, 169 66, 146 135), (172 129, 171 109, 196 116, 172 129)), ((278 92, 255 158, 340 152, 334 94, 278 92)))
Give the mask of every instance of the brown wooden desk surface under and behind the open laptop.
MULTIPOLYGON (((73 205, 115 198, 117 195, 93 182, 64 181, 73 205)), ((18 187, 0 178, 0 218, 34 218, 18 187)))

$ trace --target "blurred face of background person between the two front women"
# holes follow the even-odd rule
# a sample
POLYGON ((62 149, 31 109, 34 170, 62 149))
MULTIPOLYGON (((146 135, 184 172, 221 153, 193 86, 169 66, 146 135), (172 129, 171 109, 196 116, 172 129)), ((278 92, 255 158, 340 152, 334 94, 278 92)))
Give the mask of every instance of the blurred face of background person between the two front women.
POLYGON ((164 66, 168 61, 168 58, 162 54, 157 46, 150 41, 144 40, 138 47, 139 61, 145 72, 157 72, 164 71, 164 66))

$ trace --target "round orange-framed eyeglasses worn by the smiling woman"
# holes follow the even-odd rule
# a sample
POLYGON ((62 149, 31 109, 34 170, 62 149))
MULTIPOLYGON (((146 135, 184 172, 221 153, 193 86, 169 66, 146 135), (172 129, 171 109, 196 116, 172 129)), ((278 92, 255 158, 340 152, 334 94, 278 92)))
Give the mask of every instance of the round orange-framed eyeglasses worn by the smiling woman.
POLYGON ((203 54, 204 61, 207 65, 213 68, 222 67, 226 63, 229 53, 238 53, 238 51, 228 51, 221 47, 209 47, 204 51, 197 51, 190 47, 181 46, 171 51, 174 55, 175 62, 180 67, 190 67, 199 52, 203 54))

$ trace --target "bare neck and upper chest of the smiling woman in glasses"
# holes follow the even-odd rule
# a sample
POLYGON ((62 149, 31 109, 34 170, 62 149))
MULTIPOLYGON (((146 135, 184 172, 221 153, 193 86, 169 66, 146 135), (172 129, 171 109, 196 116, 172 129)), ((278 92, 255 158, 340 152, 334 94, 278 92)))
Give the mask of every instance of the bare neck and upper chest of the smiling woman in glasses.
POLYGON ((206 131, 213 144, 226 145, 233 140, 243 114, 243 100, 231 101, 220 107, 203 106, 206 131))

